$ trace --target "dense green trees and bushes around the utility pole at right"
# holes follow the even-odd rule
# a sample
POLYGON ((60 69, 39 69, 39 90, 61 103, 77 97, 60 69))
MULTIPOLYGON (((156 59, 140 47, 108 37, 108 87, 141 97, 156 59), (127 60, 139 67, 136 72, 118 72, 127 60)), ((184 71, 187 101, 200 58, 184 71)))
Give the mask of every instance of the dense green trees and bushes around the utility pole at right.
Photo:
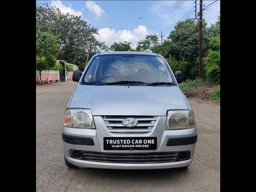
MULTIPOLYGON (((203 39, 202 39, 202 77, 203 80, 219 83, 220 82, 220 18, 216 24, 209 28, 203 20, 203 39), (205 58, 204 58, 205 57, 205 58)), ((167 40, 164 40, 162 47, 153 46, 153 52, 162 54, 170 64, 173 72, 180 70, 184 79, 194 79, 199 76, 199 28, 198 23, 187 19, 180 21, 174 26, 167 40)))

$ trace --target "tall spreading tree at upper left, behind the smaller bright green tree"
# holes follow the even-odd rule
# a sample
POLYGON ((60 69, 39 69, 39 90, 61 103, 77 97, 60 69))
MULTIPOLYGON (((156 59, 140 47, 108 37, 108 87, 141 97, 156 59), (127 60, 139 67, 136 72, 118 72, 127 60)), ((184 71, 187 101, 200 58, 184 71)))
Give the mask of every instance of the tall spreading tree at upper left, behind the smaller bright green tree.
POLYGON ((60 52, 57 59, 76 64, 81 70, 84 69, 88 54, 90 59, 94 53, 108 50, 105 42, 96 40, 96 28, 82 20, 81 16, 64 14, 56 6, 37 4, 36 24, 41 26, 42 32, 58 36, 60 52))

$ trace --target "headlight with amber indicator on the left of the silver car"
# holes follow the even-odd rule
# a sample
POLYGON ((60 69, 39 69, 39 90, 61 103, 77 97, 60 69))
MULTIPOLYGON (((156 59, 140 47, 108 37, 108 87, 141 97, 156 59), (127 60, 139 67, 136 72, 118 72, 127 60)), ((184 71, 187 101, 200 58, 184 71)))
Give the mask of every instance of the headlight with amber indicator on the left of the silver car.
POLYGON ((75 108, 66 109, 64 114, 64 126, 95 129, 91 110, 75 108))

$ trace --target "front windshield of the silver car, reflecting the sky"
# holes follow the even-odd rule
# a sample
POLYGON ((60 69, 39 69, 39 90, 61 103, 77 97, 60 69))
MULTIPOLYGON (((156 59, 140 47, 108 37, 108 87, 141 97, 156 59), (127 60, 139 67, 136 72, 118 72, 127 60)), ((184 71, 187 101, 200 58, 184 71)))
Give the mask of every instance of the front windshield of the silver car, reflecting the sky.
POLYGON ((166 62, 159 56, 140 54, 107 54, 93 58, 82 84, 115 84, 115 82, 175 83, 166 62))

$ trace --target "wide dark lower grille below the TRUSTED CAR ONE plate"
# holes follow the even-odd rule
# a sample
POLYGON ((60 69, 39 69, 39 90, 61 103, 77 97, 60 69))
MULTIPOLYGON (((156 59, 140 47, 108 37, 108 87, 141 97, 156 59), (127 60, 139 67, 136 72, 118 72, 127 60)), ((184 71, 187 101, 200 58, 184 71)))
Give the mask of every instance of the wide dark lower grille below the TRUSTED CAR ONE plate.
POLYGON ((178 160, 178 152, 105 153, 82 151, 81 160, 105 163, 169 163, 178 160))

